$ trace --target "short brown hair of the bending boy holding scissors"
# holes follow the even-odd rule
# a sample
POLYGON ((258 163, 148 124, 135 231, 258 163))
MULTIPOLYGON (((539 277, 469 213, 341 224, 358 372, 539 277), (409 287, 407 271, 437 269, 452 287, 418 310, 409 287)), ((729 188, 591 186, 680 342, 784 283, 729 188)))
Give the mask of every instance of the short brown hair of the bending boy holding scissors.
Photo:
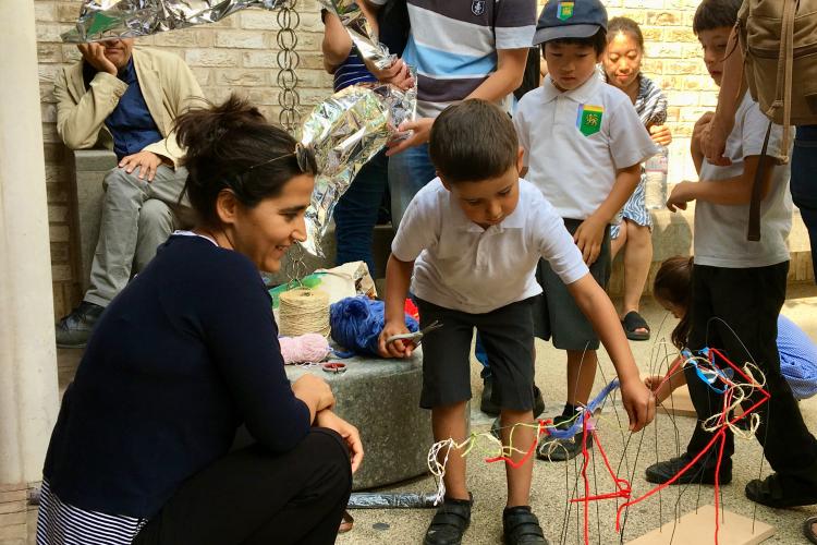
POLYGON ((431 125, 428 155, 447 182, 497 178, 516 165, 520 143, 508 113, 472 98, 451 105, 431 125))

